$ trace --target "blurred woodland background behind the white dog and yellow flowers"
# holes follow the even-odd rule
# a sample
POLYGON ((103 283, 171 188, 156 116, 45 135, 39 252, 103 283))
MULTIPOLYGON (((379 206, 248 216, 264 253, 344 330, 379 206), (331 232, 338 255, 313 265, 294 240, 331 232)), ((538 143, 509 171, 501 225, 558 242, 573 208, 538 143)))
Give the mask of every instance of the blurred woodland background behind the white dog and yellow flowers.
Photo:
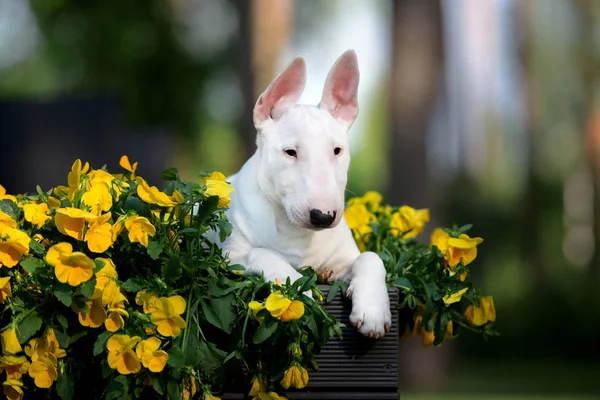
POLYGON ((293 55, 361 69, 349 195, 473 223, 501 336, 402 343, 404 399, 600 398, 600 1, 0 0, 0 183, 235 172, 293 55))

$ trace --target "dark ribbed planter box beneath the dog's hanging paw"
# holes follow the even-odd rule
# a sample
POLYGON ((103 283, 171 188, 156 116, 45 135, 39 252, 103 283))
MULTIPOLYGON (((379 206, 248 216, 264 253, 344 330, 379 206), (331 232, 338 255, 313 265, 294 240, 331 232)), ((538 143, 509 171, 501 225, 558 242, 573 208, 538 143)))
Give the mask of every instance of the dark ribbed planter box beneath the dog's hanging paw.
MULTIPOLYGON (((320 289, 327 297, 330 286, 320 289)), ((350 300, 340 293, 325 308, 346 325, 344 339, 331 338, 317 356, 319 370, 309 370, 310 380, 302 390, 289 390, 283 395, 295 399, 398 400, 398 290, 388 289, 392 311, 392 327, 382 339, 365 338, 356 332, 348 317, 350 300)), ((246 393, 226 393, 223 399, 246 399, 246 393)))

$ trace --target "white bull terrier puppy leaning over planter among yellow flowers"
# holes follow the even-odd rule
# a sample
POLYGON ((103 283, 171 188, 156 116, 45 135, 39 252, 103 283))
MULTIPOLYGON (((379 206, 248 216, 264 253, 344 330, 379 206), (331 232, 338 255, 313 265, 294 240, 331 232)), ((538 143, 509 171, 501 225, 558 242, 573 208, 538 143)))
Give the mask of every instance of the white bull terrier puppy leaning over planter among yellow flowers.
POLYGON ((233 231, 222 244, 246 273, 284 282, 308 265, 350 282, 350 322, 379 338, 391 314, 379 256, 360 253, 344 218, 350 151, 348 129, 358 113, 358 60, 346 51, 333 65, 318 107, 296 104, 306 66, 295 58, 254 107, 256 153, 228 178, 233 231))

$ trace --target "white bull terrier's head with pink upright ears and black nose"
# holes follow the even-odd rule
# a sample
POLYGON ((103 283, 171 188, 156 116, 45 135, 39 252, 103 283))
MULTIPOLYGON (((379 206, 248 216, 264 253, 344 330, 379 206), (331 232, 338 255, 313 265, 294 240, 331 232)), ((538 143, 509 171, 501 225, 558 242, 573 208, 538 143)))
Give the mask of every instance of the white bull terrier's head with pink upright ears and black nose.
POLYGON ((306 82, 304 59, 298 57, 256 102, 257 179, 294 225, 332 228, 342 218, 358 80, 356 53, 346 51, 329 72, 319 106, 298 105, 306 82))

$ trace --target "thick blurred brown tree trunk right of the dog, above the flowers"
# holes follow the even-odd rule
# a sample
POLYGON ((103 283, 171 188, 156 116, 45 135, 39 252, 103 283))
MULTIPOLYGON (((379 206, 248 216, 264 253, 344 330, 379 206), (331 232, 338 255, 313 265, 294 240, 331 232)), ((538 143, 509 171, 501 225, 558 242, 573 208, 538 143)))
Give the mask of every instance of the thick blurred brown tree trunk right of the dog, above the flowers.
POLYGON ((439 0, 394 1, 388 198, 430 206, 425 135, 442 72, 439 0))

